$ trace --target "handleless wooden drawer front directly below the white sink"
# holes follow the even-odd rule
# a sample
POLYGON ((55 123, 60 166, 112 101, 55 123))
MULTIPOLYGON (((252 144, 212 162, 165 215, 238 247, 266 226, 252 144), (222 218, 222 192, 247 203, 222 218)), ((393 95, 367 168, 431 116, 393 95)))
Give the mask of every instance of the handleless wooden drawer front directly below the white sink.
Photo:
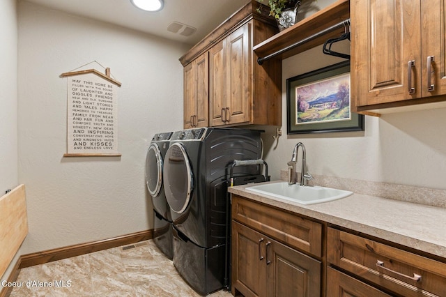
POLYGON ((322 224, 232 196, 232 218, 291 248, 322 257, 322 224))

